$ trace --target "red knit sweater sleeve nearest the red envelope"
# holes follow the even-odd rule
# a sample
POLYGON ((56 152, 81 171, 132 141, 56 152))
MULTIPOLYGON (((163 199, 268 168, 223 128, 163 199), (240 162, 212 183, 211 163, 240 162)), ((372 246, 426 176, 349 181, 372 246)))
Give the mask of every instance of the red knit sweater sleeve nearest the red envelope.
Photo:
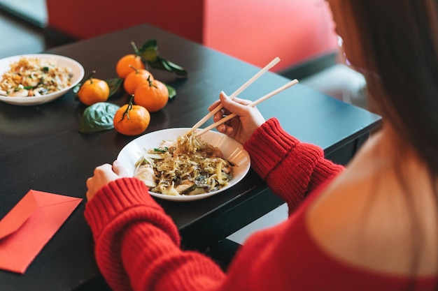
POLYGON ((176 225, 139 179, 101 188, 85 218, 97 264, 113 290, 213 290, 225 277, 204 255, 181 251, 176 225))

